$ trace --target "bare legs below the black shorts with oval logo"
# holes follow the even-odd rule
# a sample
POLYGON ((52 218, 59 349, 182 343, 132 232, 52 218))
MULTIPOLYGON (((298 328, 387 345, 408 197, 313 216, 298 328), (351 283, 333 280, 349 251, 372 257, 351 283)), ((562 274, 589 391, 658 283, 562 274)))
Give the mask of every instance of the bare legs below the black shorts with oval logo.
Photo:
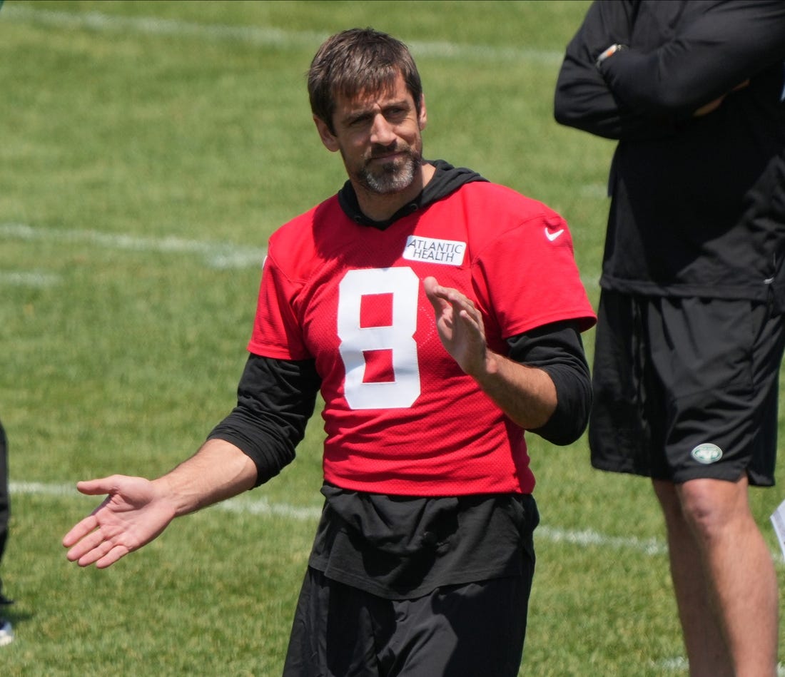
POLYGON ((774 564, 739 482, 654 482, 692 677, 775 677, 774 564))

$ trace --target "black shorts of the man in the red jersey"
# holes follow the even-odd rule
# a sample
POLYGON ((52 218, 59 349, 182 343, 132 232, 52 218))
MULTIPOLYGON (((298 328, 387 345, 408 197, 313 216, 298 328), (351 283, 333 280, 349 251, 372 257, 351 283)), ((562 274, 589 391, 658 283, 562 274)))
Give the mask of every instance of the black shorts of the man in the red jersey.
POLYGON ((384 599, 309 567, 283 677, 516 677, 530 590, 515 576, 384 599))

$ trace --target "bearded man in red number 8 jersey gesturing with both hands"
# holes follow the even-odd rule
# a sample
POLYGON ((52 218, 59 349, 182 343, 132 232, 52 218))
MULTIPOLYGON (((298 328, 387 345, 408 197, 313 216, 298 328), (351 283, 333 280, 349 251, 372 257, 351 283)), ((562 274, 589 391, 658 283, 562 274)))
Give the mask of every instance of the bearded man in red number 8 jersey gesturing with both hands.
POLYGON ((177 515, 294 458, 320 390, 325 497, 285 675, 517 675, 538 515, 524 442, 586 426, 593 325, 557 213, 422 159, 405 45, 350 30, 312 61, 316 129, 349 180, 269 242, 235 409, 64 538, 109 566, 177 515))

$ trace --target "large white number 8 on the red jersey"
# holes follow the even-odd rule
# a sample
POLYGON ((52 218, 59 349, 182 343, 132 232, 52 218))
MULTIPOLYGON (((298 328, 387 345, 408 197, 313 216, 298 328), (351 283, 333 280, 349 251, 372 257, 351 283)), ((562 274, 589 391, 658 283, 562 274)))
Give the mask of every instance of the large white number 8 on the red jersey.
POLYGON ((420 395, 414 331, 420 281, 411 268, 349 271, 338 287, 338 350, 346 369, 344 393, 352 409, 403 409, 420 395), (392 294, 390 326, 360 326, 363 296, 392 294), (394 380, 366 383, 363 351, 392 351, 394 380))

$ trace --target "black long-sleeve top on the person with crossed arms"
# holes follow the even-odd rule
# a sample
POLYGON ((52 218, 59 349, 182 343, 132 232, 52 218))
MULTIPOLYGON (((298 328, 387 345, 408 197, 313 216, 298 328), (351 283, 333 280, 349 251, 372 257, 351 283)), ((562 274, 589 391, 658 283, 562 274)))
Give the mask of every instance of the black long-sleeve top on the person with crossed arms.
POLYGON ((783 96, 785 2, 591 5, 554 113, 619 140, 605 289, 785 306, 783 96), (625 49, 597 65, 613 44, 625 49))

